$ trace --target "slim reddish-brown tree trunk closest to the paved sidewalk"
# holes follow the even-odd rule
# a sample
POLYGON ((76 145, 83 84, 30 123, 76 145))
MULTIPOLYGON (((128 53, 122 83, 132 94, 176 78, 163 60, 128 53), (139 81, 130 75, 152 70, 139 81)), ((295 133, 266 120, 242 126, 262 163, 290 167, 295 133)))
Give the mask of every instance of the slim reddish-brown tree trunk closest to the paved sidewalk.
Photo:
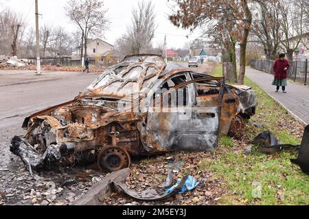
POLYGON ((244 23, 244 36, 242 38, 242 42, 240 42, 240 73, 238 77, 239 84, 244 84, 244 74, 246 73, 247 42, 248 42, 248 36, 250 34, 251 23, 252 23, 252 14, 249 9, 247 0, 242 0, 242 8, 244 8, 247 21, 246 23, 244 23))

